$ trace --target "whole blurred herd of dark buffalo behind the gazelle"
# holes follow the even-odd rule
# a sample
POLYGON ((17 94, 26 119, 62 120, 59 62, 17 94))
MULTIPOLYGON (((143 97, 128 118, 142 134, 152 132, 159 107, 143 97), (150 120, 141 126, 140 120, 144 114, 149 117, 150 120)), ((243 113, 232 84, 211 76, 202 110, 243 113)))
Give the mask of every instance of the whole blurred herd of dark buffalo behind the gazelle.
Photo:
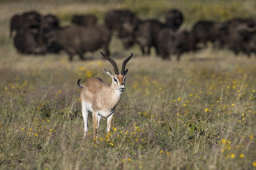
POLYGON ((102 48, 110 55, 109 44, 113 32, 118 34, 124 48, 139 45, 143 55, 154 47, 157 56, 177 60, 186 51, 197 51, 213 44, 213 48, 228 48, 235 54, 240 51, 250 57, 256 53, 256 21, 234 18, 225 22, 201 20, 191 31, 181 29, 183 15, 173 9, 165 14, 165 23, 156 19, 140 20, 129 10, 111 10, 105 15, 105 24, 98 25, 94 15, 73 15, 72 26, 61 27, 52 14, 36 11, 14 15, 10 22, 10 36, 15 32, 14 45, 22 54, 58 54, 64 50, 70 61, 78 54, 81 59, 87 51, 102 48))

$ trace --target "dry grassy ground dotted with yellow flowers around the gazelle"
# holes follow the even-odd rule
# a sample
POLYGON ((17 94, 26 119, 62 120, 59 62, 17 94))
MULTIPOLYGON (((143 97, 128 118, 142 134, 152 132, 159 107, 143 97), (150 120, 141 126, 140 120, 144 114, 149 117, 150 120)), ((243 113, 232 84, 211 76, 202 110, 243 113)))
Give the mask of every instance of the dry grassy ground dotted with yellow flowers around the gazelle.
MULTIPOLYGON (((161 14, 170 7, 166 1, 141 2, 145 9, 134 11, 142 18, 149 12, 148 17, 163 19, 161 14)), ((227 2, 241 6, 225 11, 227 18, 244 11, 244 17, 255 13, 254 1, 227 2)), ((77 13, 85 13, 83 5, 64 1, 51 12, 65 25, 75 7, 77 13)), ((107 11, 88 10, 99 16, 107 11)), ((192 11, 183 10, 188 18, 183 27, 191 25, 192 11)), ((91 59, 84 62, 79 57, 69 62, 64 51, 59 55, 21 56, 12 41, 3 39, 8 34, 10 14, 18 12, 22 10, 3 8, 0 15, 1 170, 255 169, 255 55, 235 56, 209 45, 197 53, 183 54, 180 62, 175 57, 163 61, 154 51, 143 57, 137 46, 125 51, 119 41, 112 41, 110 50, 119 67, 129 52, 134 57, 127 64, 127 93, 114 113, 112 140, 102 118, 94 144, 91 116, 88 138, 81 139, 81 88, 76 81, 102 77, 110 83, 103 68, 112 69, 111 64, 99 51, 87 53, 91 59)), ((47 7, 40 12, 46 14, 47 7)), ((203 13, 214 14, 211 19, 221 20, 217 9, 194 13, 198 18, 205 16, 203 13)))

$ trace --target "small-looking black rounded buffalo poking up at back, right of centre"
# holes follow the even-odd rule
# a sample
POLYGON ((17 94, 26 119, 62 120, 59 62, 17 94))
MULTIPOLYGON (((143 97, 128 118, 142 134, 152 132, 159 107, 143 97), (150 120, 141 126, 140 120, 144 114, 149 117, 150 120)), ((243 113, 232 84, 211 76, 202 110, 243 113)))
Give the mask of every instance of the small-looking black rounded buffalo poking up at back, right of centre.
POLYGON ((183 15, 177 9, 166 12, 165 17, 166 25, 172 28, 172 31, 176 31, 183 22, 183 15))

